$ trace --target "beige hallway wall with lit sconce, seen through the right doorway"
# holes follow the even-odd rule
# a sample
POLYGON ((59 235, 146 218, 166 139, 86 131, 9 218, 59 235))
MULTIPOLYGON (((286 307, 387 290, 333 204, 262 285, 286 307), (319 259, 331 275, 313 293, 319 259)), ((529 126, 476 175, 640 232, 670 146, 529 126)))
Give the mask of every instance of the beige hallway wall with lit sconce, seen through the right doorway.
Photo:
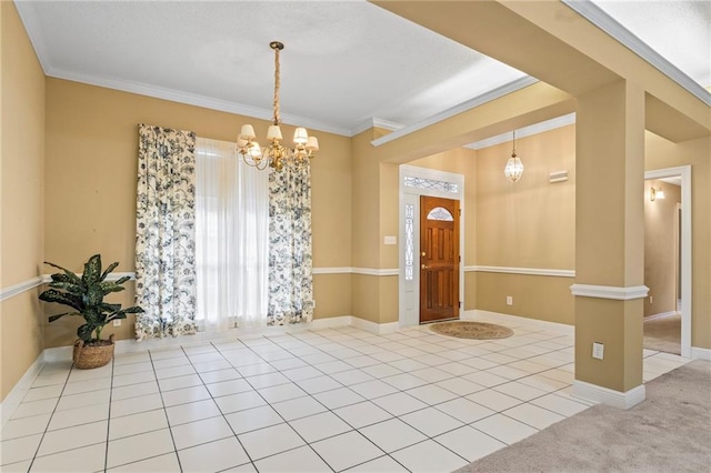
MULTIPOLYGON (((677 311, 677 204, 681 188, 660 180, 644 182, 644 316, 677 311), (663 189, 664 199, 650 201, 651 189, 663 189)), ((681 296, 681 294, 679 295, 681 296)))

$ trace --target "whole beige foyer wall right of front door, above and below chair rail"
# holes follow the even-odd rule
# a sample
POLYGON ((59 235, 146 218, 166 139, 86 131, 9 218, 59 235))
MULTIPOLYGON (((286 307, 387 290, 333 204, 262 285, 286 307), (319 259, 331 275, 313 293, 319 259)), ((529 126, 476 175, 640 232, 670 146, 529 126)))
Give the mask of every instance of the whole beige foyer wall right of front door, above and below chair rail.
MULTIPOLYGON (((477 152, 477 265, 573 270, 575 256, 575 127, 517 139, 523 177, 503 175, 512 142, 477 152), (550 183, 553 171, 569 180, 550 183)), ((479 272, 479 310, 574 323, 571 278, 479 272), (513 305, 505 304, 507 295, 513 305)))

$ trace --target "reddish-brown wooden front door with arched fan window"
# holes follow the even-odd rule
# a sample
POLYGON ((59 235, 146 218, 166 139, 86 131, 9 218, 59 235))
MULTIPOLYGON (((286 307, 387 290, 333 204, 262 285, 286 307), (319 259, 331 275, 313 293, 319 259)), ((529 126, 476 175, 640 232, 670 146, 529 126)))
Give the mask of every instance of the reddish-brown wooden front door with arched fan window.
POLYGON ((420 323, 459 318, 459 201, 420 197, 420 323))

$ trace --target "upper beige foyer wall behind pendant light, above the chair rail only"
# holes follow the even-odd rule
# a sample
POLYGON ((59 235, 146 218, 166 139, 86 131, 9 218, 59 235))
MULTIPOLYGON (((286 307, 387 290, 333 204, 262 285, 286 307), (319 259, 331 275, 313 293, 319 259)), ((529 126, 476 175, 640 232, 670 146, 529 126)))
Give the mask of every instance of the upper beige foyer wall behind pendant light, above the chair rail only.
POLYGON ((511 141, 477 153, 477 264, 572 270, 575 264, 575 127, 517 139, 523 177, 503 168, 511 141), (551 184, 549 174, 569 180, 551 184))

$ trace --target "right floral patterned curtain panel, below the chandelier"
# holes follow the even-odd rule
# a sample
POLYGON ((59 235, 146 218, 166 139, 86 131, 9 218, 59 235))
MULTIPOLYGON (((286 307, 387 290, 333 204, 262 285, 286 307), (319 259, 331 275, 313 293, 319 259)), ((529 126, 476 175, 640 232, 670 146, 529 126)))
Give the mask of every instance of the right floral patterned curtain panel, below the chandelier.
POLYGON ((311 168, 284 164, 269 175, 268 325, 310 322, 311 168))

